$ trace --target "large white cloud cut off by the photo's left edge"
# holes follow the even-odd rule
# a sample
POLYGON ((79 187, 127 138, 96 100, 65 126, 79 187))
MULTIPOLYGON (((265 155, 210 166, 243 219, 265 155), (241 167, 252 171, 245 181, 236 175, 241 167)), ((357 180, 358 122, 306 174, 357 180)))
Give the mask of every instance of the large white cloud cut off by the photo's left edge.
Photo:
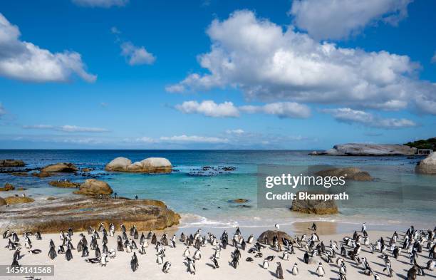
POLYGON ((76 75, 87 82, 96 76, 86 71, 81 54, 51 53, 33 43, 20 41, 18 26, 0 14, 0 75, 31 82, 65 82, 76 75))

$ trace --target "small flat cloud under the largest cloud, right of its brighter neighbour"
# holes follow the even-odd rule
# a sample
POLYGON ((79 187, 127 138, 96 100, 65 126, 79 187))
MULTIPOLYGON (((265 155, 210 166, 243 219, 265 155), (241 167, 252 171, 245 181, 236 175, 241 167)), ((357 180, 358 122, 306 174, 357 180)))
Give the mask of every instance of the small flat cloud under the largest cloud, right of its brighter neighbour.
POLYGON ((310 108, 295 102, 276 102, 262 106, 245 105, 239 109, 246 113, 277 115, 279 118, 308 118, 311 115, 310 108))

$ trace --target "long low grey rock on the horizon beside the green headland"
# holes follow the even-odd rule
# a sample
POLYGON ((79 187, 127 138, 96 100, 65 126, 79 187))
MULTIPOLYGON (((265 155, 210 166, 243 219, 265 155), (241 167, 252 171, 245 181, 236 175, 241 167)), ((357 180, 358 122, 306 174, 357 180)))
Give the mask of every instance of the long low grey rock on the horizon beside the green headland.
POLYGON ((416 149, 405 145, 383 144, 342 144, 323 152, 311 152, 311 155, 415 155, 416 149))

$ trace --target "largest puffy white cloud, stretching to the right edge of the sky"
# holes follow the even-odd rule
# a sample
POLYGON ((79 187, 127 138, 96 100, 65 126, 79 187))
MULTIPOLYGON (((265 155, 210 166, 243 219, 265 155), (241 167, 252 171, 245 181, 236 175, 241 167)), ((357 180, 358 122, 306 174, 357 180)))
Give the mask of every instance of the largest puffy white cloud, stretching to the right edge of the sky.
POLYGON ((386 110, 413 107, 417 97, 436 101, 436 84, 417 80, 420 66, 408 56, 318 43, 251 11, 212 21, 207 34, 211 51, 199 56, 207 73, 192 73, 167 90, 237 87, 249 100, 386 110))

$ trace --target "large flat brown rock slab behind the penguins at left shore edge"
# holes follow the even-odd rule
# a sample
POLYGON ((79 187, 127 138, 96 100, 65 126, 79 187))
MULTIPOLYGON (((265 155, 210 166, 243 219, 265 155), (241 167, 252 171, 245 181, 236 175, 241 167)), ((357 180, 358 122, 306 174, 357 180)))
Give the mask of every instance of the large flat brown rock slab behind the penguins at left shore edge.
POLYGON ((72 227, 75 232, 88 227, 98 228, 123 223, 138 231, 158 230, 178 224, 180 215, 157 200, 147 199, 94 199, 90 197, 59 197, 41 199, 31 204, 0 207, 0 224, 3 229, 16 232, 60 232, 72 227))

